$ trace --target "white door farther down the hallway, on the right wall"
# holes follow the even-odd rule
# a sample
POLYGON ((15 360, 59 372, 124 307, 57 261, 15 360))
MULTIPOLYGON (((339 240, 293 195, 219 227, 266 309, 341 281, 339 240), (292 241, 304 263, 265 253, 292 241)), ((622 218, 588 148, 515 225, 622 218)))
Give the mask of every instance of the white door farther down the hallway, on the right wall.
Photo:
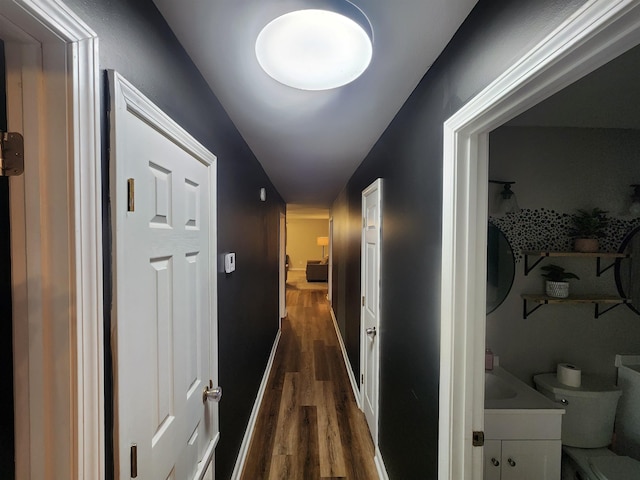
POLYGON ((378 443, 378 391, 380 388, 380 247, 382 232, 382 180, 362 192, 362 309, 360 333, 360 395, 374 444, 378 443))

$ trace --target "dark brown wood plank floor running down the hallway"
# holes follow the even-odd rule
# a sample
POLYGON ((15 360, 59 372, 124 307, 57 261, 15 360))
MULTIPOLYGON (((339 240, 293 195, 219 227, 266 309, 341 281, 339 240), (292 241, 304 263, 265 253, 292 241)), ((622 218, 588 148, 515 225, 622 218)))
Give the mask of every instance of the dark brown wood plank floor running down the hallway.
POLYGON ((378 478, 325 296, 287 288, 288 316, 243 480, 378 478))

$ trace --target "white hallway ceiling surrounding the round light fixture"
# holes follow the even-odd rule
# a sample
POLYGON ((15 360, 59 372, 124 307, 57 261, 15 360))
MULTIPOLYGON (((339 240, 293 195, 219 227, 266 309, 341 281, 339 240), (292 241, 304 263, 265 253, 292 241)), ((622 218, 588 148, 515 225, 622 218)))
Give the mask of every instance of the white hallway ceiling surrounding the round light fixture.
POLYGON ((477 0, 354 0, 373 60, 321 92, 276 82, 254 51, 264 25, 312 1, 154 0, 285 201, 328 206, 477 0))

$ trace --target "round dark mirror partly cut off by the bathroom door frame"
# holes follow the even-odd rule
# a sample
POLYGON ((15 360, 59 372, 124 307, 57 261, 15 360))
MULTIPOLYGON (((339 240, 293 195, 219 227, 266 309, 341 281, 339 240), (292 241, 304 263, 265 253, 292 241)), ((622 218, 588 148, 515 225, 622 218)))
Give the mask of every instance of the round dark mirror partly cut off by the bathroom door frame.
POLYGON ((487 314, 498 308, 509 295, 515 271, 515 258, 507 237, 490 223, 487 234, 487 314))

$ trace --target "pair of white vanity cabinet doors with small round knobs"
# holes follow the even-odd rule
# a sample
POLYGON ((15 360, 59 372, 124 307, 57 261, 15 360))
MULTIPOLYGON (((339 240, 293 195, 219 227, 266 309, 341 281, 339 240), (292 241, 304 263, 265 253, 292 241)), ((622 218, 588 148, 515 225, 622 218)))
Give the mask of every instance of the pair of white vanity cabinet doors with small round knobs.
POLYGON ((560 480, 560 440, 486 440, 484 480, 560 480))

